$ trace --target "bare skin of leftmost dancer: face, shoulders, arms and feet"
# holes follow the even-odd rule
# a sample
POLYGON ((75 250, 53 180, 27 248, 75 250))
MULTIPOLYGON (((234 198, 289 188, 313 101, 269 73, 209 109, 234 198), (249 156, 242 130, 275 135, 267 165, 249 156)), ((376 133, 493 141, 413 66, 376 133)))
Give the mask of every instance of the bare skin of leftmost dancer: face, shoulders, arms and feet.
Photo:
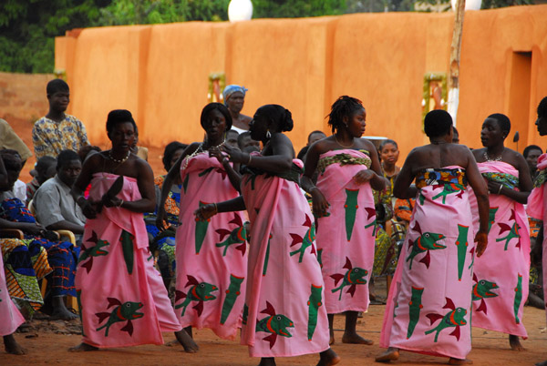
MULTIPOLYGON (((107 172, 120 176, 136 178, 141 198, 135 201, 125 201, 118 197, 105 199, 104 205, 108 208, 119 207, 129 209, 133 212, 150 212, 156 207, 156 193, 154 190, 154 175, 150 165, 136 155, 129 154, 129 158, 122 163, 115 162, 109 158, 111 151, 112 157, 121 160, 128 156, 129 149, 135 138, 135 128, 131 122, 122 122, 114 125, 108 132, 108 138, 112 142, 111 150, 94 154, 86 159, 82 171, 79 174, 76 183, 72 187, 72 196, 82 208, 84 215, 88 219, 96 219, 98 215, 98 201, 91 198, 83 198, 83 193, 88 188, 93 174, 107 172)), ((193 341, 185 330, 175 332, 177 340, 186 349, 191 348, 193 341)), ((195 345, 195 343, 193 343, 195 345)), ((197 347, 197 346, 196 346, 197 347)), ((80 343, 69 351, 97 351, 87 343, 80 343)))

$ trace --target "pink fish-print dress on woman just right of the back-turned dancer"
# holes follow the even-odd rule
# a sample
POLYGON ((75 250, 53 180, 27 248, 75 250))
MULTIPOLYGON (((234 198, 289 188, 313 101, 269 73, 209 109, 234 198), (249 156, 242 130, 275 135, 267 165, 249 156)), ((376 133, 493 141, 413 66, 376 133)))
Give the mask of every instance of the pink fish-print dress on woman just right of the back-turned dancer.
MULTIPOLYGON (((502 161, 478 163, 484 178, 519 188, 519 171, 502 161)), ((530 227, 524 205, 490 192, 488 248, 475 259, 473 327, 527 338, 522 323, 530 277, 530 227)), ((477 198, 470 194, 475 229, 479 229, 477 198)))

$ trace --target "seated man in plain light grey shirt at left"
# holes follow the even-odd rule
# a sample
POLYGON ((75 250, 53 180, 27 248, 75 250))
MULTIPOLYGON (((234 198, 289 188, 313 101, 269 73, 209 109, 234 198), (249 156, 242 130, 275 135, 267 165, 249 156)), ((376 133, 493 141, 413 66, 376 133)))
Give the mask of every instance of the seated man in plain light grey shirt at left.
POLYGON ((70 230, 81 242, 86 217, 70 194, 70 188, 82 169, 77 153, 63 150, 57 157, 57 175, 36 190, 33 200, 36 219, 49 230, 70 230))

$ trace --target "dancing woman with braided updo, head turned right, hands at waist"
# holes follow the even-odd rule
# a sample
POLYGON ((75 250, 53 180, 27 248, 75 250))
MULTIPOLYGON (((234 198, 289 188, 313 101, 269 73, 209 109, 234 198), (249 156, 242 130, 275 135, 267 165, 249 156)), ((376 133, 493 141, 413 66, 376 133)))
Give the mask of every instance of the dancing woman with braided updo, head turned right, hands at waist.
POLYGON ((330 343, 333 321, 346 311, 344 343, 373 344, 356 333, 357 312, 368 309, 368 282, 374 264, 376 210, 372 188, 386 188, 377 149, 360 138, 366 112, 354 97, 339 97, 328 124, 333 136, 312 145, 306 155, 303 187, 312 195, 317 217, 317 252, 325 281, 330 343), (319 170, 317 186, 312 178, 319 170), (357 272, 358 270, 358 272, 357 272), (355 272, 352 281, 345 277, 355 272), (355 283, 351 284, 350 283, 355 283))

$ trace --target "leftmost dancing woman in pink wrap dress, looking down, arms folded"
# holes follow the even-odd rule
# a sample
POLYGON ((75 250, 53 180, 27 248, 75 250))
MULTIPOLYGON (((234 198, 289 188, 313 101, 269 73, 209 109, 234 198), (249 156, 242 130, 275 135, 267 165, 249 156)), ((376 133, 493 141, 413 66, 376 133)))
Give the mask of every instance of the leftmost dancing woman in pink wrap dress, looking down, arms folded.
POLYGON ((90 156, 72 188, 88 220, 76 274, 83 337, 71 351, 163 344, 162 331, 191 342, 153 268, 142 218, 155 207, 153 175, 130 152, 135 127, 128 110, 108 113, 112 148, 90 156))

